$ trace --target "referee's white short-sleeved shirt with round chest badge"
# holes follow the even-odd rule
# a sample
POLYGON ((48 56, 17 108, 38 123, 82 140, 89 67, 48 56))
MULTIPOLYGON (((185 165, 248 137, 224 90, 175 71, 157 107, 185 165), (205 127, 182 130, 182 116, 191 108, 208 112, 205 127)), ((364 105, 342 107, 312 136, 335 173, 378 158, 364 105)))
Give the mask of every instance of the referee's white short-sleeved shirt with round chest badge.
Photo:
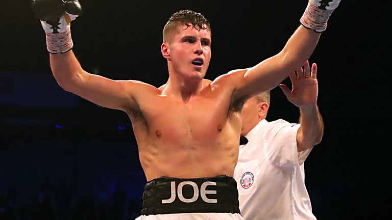
POLYGON ((311 148, 297 150, 299 124, 260 121, 239 146, 234 171, 245 220, 316 219, 305 187, 304 161, 311 148))

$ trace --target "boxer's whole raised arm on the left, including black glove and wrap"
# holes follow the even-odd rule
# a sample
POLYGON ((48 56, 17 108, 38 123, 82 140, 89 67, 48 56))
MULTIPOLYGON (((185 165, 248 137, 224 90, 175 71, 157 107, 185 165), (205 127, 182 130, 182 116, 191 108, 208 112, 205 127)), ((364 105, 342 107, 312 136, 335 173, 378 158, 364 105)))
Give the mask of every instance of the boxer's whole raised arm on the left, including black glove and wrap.
POLYGON ((71 21, 82 13, 77 0, 32 0, 32 9, 46 34, 53 75, 64 90, 103 107, 126 110, 136 104, 137 92, 149 88, 141 82, 111 80, 82 69, 71 50, 71 21))

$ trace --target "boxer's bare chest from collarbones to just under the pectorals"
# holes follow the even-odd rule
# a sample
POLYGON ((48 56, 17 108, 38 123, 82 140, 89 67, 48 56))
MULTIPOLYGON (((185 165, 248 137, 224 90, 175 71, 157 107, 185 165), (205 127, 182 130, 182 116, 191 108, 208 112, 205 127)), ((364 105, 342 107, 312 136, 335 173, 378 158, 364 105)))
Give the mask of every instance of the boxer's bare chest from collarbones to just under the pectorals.
POLYGON ((170 146, 215 143, 219 136, 232 132, 233 126, 240 126, 229 92, 205 91, 187 100, 152 96, 140 103, 140 119, 134 125, 136 137, 170 146))

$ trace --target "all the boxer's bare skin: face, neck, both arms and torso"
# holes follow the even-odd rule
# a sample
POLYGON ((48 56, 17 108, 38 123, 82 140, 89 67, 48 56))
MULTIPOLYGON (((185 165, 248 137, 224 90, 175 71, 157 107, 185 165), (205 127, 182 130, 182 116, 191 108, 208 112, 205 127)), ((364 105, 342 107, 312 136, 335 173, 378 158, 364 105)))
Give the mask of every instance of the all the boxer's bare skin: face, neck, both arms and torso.
POLYGON ((90 74, 72 51, 50 54, 50 59, 64 90, 129 115, 148 181, 161 176, 232 177, 243 103, 278 86, 287 72, 308 59, 319 37, 300 26, 274 57, 210 81, 204 76, 211 58, 211 33, 182 25, 161 46, 169 79, 160 88, 90 74), (202 65, 194 65, 195 59, 203 60, 202 65))

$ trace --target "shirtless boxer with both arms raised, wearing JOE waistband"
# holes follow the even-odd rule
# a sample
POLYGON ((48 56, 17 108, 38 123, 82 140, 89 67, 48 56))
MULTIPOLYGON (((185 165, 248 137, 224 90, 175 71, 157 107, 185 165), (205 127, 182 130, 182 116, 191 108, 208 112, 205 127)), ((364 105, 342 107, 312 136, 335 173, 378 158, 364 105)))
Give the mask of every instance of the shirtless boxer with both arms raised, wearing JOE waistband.
POLYGON ((176 12, 164 27, 161 45, 169 78, 157 89, 136 80, 111 80, 84 71, 71 50, 70 34, 70 21, 78 16, 75 9, 80 4, 66 1, 66 13, 59 19, 43 19, 39 15, 48 12, 37 10, 42 9, 41 1, 48 0, 33 0, 33 8, 46 33, 58 84, 97 105, 129 115, 148 180, 140 219, 242 219, 232 176, 243 103, 278 86, 289 72, 303 65, 340 2, 310 0, 302 25, 278 54, 214 81, 204 79, 211 58, 209 22, 200 13, 176 12))

